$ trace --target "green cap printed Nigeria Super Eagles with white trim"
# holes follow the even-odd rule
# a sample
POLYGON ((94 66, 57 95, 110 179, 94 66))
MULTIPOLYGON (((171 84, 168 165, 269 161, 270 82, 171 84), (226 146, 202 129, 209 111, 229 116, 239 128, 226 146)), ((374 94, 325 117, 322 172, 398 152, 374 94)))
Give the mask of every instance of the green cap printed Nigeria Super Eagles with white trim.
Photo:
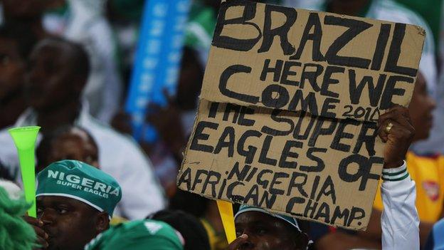
POLYGON ((78 199, 110 216, 122 199, 122 189, 113 177, 77 160, 54 162, 37 175, 37 180, 36 197, 78 199))

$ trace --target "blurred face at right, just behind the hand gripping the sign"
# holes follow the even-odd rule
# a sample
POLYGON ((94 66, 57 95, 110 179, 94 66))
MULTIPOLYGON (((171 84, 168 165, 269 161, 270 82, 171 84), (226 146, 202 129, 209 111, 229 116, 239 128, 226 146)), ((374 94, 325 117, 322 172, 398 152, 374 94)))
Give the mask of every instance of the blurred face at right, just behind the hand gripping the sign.
POLYGON ((413 127, 415 127, 414 141, 428 138, 430 128, 433 125, 432 111, 435 109, 435 106, 435 100, 428 95, 425 78, 421 73, 418 73, 412 100, 408 106, 408 112, 410 113, 413 127))

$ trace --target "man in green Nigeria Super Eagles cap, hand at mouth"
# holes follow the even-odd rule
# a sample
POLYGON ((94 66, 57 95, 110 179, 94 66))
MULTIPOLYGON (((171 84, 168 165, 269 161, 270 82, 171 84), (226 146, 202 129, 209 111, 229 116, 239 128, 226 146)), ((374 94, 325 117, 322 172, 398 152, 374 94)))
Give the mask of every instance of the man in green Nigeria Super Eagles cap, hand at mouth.
POLYGON ((25 219, 44 248, 83 249, 109 229, 122 198, 113 177, 84 162, 63 160, 39 172, 37 180, 37 219, 25 219))

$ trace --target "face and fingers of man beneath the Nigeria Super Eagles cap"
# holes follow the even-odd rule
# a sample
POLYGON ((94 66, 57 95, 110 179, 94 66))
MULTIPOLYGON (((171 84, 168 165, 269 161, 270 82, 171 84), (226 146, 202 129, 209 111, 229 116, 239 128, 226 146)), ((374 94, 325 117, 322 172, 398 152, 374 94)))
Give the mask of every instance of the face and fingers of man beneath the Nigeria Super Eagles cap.
POLYGON ((37 197, 37 219, 25 217, 33 226, 42 249, 80 250, 110 227, 106 212, 68 197, 37 197))

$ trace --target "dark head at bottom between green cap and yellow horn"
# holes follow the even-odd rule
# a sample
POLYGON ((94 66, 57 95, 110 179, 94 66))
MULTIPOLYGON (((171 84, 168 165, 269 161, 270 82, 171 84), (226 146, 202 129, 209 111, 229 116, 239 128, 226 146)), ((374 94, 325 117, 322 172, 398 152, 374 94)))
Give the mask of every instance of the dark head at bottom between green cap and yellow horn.
POLYGON ((206 230, 196 217, 180 210, 161 210, 147 219, 166 222, 184 236, 184 250, 209 250, 206 230))

